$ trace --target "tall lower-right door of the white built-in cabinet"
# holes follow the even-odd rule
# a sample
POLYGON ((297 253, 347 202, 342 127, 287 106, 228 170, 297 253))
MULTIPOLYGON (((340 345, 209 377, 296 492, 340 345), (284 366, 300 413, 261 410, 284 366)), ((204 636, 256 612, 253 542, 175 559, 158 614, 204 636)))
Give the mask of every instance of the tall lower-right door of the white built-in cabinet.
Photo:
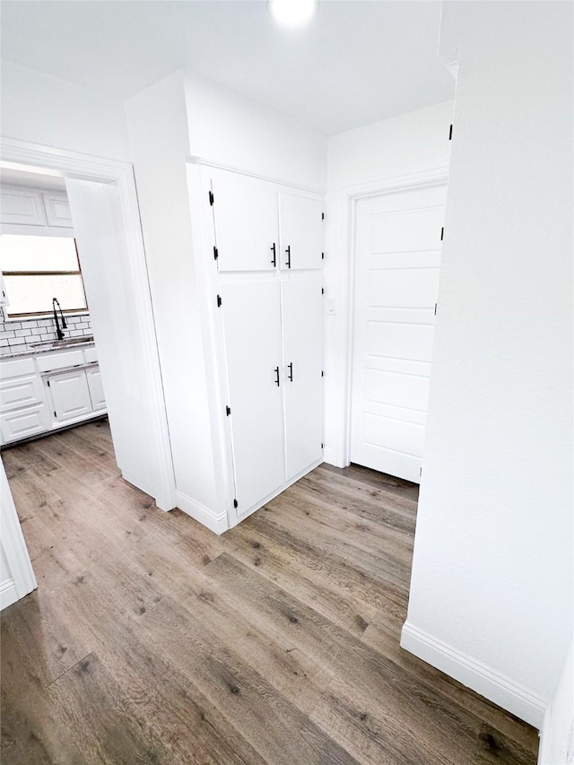
POLYGON ((321 274, 297 276, 281 287, 288 481, 323 455, 321 274))

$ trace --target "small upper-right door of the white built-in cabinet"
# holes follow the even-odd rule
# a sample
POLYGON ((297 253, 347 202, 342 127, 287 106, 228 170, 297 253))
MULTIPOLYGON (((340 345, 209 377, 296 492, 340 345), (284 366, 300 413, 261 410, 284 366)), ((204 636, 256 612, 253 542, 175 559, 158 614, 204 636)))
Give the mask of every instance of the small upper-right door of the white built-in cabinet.
POLYGON ((323 204, 293 194, 279 195, 279 237, 283 270, 323 265, 323 204))

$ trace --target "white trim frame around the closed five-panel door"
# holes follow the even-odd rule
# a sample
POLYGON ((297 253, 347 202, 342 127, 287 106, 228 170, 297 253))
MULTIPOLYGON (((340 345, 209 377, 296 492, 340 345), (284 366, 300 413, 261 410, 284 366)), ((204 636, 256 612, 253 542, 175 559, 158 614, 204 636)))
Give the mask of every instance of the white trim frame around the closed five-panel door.
POLYGON ((355 275, 357 269, 356 224, 357 203, 373 196, 396 194, 399 191, 441 186, 448 182, 448 165, 422 170, 392 178, 378 177, 340 187, 336 197, 336 216, 340 222, 337 239, 343 243, 344 260, 339 275, 341 321, 339 329, 343 335, 337 351, 337 392, 336 438, 332 455, 335 465, 346 467, 351 464, 351 416, 352 416, 352 361, 354 352, 354 299, 355 275))

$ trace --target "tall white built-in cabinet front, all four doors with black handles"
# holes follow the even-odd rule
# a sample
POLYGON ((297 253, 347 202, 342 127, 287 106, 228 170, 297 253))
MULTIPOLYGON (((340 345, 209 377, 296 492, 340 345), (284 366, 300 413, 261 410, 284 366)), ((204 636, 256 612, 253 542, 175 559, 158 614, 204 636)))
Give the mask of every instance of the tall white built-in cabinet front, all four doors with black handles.
POLYGON ((324 204, 226 170, 203 181, 234 526, 323 459, 324 204))

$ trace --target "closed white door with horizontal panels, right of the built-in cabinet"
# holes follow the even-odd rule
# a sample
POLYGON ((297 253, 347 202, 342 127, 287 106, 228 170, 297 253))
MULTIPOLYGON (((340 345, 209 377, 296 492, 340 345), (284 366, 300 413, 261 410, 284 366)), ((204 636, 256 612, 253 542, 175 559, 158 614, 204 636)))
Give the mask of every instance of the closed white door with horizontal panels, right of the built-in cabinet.
POLYGON ((360 200, 351 461, 419 482, 446 186, 360 200))

